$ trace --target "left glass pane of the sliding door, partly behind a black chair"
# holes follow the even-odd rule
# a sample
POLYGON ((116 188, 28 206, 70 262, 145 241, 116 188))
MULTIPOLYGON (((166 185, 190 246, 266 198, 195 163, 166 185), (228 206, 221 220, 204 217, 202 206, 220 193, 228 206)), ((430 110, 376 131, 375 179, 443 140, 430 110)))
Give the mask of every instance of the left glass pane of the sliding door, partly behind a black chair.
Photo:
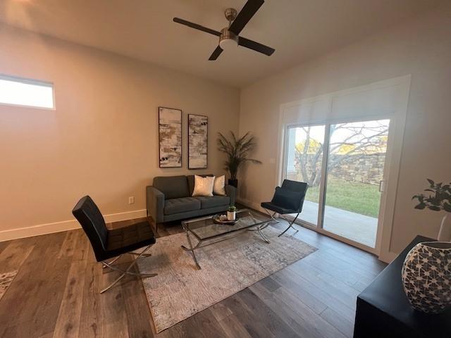
POLYGON ((319 184, 323 162, 324 125, 288 129, 288 180, 307 182, 309 189, 299 219, 316 225, 319 210, 319 184))

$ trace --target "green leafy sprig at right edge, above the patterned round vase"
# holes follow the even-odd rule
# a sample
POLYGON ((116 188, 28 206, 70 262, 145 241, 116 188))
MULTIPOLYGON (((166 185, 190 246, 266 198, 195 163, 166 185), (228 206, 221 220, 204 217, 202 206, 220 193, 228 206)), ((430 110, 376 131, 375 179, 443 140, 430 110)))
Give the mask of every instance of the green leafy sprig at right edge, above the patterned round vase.
POLYGON ((451 183, 435 183, 433 180, 427 179, 429 182, 428 189, 424 189, 429 194, 414 195, 412 199, 416 199, 419 203, 416 209, 428 208, 432 211, 447 211, 451 213, 451 183))

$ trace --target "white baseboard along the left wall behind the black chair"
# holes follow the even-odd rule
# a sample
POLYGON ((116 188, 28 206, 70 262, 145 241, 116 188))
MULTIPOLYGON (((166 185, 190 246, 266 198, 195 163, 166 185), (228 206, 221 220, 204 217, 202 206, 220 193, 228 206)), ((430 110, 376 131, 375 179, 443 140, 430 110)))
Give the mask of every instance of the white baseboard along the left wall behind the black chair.
MULTIPOLYGON (((111 213, 104 215, 105 222, 119 222, 121 220, 133 220, 135 218, 146 217, 146 209, 126 211, 125 213, 111 213)), ((31 227, 20 227, 18 229, 10 229, 0 231, 0 242, 9 241, 11 239, 39 236, 41 234, 51 234, 54 232, 61 232, 80 228, 80 223, 77 220, 63 220, 61 222, 46 223, 39 225, 32 225, 31 227)))

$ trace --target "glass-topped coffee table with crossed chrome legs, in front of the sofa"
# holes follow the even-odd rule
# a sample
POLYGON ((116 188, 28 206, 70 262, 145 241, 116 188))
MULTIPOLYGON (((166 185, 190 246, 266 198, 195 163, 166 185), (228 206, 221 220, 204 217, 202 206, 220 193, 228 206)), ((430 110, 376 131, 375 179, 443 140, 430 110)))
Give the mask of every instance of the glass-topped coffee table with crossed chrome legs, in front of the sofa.
POLYGON ((182 222, 182 226, 186 232, 186 238, 190 246, 189 248, 187 248, 183 245, 182 249, 185 251, 191 251, 192 258, 194 258, 194 263, 196 263, 198 269, 200 269, 200 265, 197 262, 194 250, 201 248, 203 242, 210 242, 214 239, 219 240, 205 245, 222 242, 223 240, 231 238, 228 235, 233 234, 233 232, 238 233, 247 230, 258 232, 261 239, 263 239, 266 243, 269 243, 269 239, 265 237, 261 230, 264 230, 264 228, 266 228, 271 223, 271 217, 249 209, 241 209, 240 211, 237 211, 236 217, 237 223, 235 223, 234 225, 216 224, 213 221, 213 215, 182 222), (194 246, 192 245, 191 237, 197 239, 197 244, 194 246))

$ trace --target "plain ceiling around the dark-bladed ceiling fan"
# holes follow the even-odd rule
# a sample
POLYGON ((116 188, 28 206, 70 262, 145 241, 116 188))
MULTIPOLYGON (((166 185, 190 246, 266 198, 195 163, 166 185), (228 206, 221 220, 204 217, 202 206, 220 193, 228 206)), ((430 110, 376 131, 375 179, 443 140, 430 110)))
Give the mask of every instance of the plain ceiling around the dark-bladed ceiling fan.
POLYGON ((238 47, 217 61, 208 61, 217 37, 172 18, 221 30, 223 11, 245 0, 0 0, 0 21, 244 87, 446 1, 267 0, 241 35, 276 52, 238 47))

